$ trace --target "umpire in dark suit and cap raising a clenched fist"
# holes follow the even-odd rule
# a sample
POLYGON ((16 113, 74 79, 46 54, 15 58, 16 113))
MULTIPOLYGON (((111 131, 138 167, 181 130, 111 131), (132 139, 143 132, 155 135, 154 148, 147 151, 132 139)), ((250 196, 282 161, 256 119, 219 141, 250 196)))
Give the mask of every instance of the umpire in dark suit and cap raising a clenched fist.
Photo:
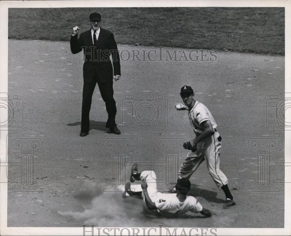
POLYGON ((96 83, 99 86, 108 113, 106 127, 114 134, 120 134, 120 130, 115 123, 117 110, 113 98, 113 78, 115 81, 120 79, 120 57, 117 45, 113 34, 100 27, 101 15, 99 13, 91 13, 89 19, 91 29, 81 33, 78 39, 79 28, 74 27, 70 40, 72 53, 79 53, 83 49, 85 55, 80 136, 89 134, 89 113, 96 83), (112 56, 113 69, 110 55, 112 56))

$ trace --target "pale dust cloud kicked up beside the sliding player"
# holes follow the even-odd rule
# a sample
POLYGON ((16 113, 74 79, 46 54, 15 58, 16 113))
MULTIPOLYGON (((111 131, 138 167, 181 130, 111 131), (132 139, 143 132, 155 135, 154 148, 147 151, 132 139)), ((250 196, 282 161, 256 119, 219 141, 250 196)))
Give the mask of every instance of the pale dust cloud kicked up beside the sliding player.
POLYGON ((131 227, 143 222, 143 201, 132 197, 122 198, 124 186, 114 191, 111 186, 96 183, 90 179, 82 179, 76 195, 83 211, 58 211, 62 216, 70 216, 80 220, 80 224, 94 224, 96 227, 131 227))

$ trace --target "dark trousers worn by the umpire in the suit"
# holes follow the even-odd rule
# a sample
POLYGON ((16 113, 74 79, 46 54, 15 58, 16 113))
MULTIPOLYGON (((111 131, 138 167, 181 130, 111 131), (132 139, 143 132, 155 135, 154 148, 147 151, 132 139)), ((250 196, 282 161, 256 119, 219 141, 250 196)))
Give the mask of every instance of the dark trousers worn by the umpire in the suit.
POLYGON ((81 118, 81 132, 89 132, 90 120, 89 113, 92 103, 92 95, 96 86, 96 83, 99 86, 101 97, 106 105, 106 111, 108 113, 108 120, 106 127, 110 128, 115 123, 116 116, 116 102, 113 98, 113 80, 107 83, 100 82, 98 76, 95 74, 94 78, 90 83, 84 82, 83 87, 83 101, 82 101, 82 118, 81 118))

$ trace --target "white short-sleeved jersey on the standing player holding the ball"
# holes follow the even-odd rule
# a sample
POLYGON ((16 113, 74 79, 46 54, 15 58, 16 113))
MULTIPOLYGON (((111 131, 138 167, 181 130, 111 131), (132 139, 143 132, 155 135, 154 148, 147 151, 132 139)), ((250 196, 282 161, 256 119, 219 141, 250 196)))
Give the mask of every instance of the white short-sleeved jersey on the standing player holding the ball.
POLYGON ((213 129, 217 128, 217 124, 208 108, 198 101, 195 101, 194 106, 189 111, 189 120, 196 134, 201 134, 205 130, 201 123, 206 120, 210 120, 213 129))

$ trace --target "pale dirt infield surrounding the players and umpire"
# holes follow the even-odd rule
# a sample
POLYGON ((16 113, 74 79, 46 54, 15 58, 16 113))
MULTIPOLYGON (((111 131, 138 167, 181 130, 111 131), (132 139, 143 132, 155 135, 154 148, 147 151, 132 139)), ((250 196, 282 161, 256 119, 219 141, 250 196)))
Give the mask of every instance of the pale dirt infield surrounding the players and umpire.
MULTIPOLYGON (((24 122, 23 127, 15 128, 17 133, 8 135, 8 161, 20 161, 21 150, 13 146, 14 139, 40 139, 43 144, 34 152, 34 186, 39 189, 19 192, 16 188, 20 181, 8 184, 8 226, 283 228, 284 136, 281 131, 273 132, 282 127, 276 123, 276 109, 269 106, 268 99, 278 95, 272 101, 278 104, 284 100, 280 98, 285 85, 285 57, 206 52, 213 60, 203 60, 198 51, 195 61, 189 59, 191 50, 179 48, 178 59, 186 56, 175 61, 165 57, 166 50, 172 55, 173 48, 162 48, 162 57, 159 48, 118 45, 118 49, 124 52, 122 75, 113 87, 121 135, 111 134, 104 127, 105 104, 96 88, 90 134, 80 137, 81 53, 72 55, 69 42, 9 40, 8 94, 23 99, 24 122), (152 61, 148 57, 133 60, 133 52, 139 52, 142 59, 142 52, 148 56, 150 50, 157 52, 149 54, 152 61), (214 215, 155 218, 143 212, 141 200, 121 198, 118 185, 125 180, 115 175, 113 167, 125 161, 120 171, 128 178, 130 163, 148 162, 162 180, 161 189, 172 187, 166 182, 166 154, 177 156, 180 165, 187 152, 171 147, 177 140, 189 140, 192 132, 187 112, 174 108, 182 102, 179 92, 185 84, 194 88, 195 98, 209 108, 218 124, 221 169, 237 205, 222 209, 223 191, 217 189, 203 163, 190 179, 189 194, 214 215), (148 126, 130 118, 128 109, 134 109, 138 93, 152 93, 159 111, 157 123, 147 117, 155 115, 150 110, 141 111, 148 126), (132 102, 129 108, 125 106, 128 101, 132 102), (124 144, 126 140, 129 146, 124 144), (161 140, 166 140, 166 148, 158 145, 161 140), (274 144, 272 148, 269 142, 274 144), (124 145, 118 146, 120 143, 124 145), (262 153, 270 157, 267 164, 261 162, 262 153)), ((19 166, 8 168, 9 178, 20 180, 20 175, 19 166)))

